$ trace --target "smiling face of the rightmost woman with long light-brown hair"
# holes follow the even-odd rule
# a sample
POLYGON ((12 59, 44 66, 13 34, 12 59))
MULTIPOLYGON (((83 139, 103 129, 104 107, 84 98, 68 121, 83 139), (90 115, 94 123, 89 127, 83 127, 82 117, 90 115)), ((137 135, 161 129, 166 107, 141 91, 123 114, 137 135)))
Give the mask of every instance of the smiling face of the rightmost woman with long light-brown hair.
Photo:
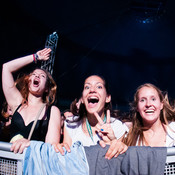
POLYGON ((158 92, 153 87, 142 87, 138 93, 137 110, 142 117, 143 124, 153 124, 160 119, 163 103, 158 92))

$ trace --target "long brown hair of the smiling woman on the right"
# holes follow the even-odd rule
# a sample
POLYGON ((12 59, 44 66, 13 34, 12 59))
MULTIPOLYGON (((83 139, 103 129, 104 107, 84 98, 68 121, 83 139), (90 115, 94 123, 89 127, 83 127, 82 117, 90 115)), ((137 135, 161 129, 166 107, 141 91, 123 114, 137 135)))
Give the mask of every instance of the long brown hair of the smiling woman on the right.
POLYGON ((138 100, 139 100, 138 94, 139 94, 140 89, 143 87, 153 88, 157 91, 160 101, 163 103, 163 109, 160 112, 161 122, 163 124, 168 125, 168 122, 175 121, 175 110, 174 110, 174 107, 170 105, 169 103, 167 93, 163 94, 163 92, 158 87, 156 87, 155 85, 151 83, 145 83, 139 86, 134 95, 134 101, 130 104, 131 106, 130 115, 132 118, 132 128, 130 129, 127 137, 124 139, 125 144, 128 146, 136 146, 137 141, 138 141, 138 145, 140 145, 144 139, 143 131, 146 128, 143 126, 142 118, 140 116, 140 113, 137 111, 137 105, 138 105, 138 100))

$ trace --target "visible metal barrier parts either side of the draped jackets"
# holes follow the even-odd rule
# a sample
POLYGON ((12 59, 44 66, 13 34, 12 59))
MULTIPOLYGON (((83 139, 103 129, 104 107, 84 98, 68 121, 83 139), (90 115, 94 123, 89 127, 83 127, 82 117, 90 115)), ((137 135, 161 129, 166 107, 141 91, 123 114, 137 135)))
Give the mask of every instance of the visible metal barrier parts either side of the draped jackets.
MULTIPOLYGON (((10 151, 11 143, 0 141, 0 175, 22 175, 23 154, 10 151)), ((175 147, 167 148, 164 175, 175 175, 175 147)))

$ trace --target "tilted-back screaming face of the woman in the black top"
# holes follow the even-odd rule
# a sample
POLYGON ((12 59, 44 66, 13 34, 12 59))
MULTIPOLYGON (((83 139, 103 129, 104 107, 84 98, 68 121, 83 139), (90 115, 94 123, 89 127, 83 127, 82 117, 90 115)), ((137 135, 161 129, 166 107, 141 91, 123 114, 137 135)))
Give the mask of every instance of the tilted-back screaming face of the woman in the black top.
POLYGON ((45 91, 47 75, 41 69, 35 69, 29 78, 29 91, 35 95, 42 95, 45 91))

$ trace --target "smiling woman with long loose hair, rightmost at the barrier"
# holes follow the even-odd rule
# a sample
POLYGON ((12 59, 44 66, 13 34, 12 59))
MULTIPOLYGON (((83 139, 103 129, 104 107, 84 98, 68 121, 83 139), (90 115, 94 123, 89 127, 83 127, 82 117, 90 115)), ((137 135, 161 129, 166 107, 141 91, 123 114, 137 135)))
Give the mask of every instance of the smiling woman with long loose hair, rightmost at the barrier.
POLYGON ((143 84, 131 107, 132 126, 125 139, 128 146, 175 145, 175 109, 167 94, 153 84, 143 84))

